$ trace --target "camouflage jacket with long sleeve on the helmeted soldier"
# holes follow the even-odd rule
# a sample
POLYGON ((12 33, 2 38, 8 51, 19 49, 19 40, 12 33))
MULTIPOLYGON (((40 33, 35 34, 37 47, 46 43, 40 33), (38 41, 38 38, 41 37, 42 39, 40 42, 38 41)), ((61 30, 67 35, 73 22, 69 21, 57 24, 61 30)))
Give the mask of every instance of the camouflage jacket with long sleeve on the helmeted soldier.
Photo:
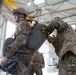
POLYGON ((21 21, 16 28, 16 38, 15 41, 8 46, 6 56, 9 58, 19 51, 23 45, 26 45, 28 36, 31 32, 30 25, 25 21, 21 21))

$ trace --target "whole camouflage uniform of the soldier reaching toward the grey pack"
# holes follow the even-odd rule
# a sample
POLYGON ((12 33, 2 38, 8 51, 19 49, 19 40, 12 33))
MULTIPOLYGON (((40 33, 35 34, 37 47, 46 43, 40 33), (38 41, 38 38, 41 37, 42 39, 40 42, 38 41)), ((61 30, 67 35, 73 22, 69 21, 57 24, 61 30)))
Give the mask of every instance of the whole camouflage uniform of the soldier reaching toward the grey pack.
POLYGON ((76 75, 76 33, 59 17, 51 21, 46 28, 49 33, 54 29, 57 29, 58 32, 56 40, 52 44, 59 57, 59 75, 76 75))

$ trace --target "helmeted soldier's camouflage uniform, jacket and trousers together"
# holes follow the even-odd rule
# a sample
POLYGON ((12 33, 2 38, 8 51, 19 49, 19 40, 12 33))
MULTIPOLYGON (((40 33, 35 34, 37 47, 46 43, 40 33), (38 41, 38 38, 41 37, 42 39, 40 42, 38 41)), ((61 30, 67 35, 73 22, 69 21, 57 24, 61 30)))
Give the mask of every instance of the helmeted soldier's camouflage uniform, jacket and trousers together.
POLYGON ((6 56, 10 58, 18 53, 19 59, 21 60, 20 66, 14 75, 22 75, 22 72, 26 69, 25 66, 27 66, 31 60, 32 52, 31 50, 26 49, 26 46, 24 46, 26 45, 30 32, 30 25, 25 20, 21 21, 16 29, 15 41, 8 46, 6 56))

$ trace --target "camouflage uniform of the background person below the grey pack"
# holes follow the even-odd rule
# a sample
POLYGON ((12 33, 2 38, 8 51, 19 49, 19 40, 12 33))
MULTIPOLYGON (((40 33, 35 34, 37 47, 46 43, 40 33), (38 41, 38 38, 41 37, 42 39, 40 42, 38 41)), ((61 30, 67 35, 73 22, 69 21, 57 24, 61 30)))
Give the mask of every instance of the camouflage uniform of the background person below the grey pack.
POLYGON ((35 52, 30 64, 30 75, 33 75, 34 73, 36 73, 36 75, 43 75, 43 65, 45 65, 43 54, 35 52))

